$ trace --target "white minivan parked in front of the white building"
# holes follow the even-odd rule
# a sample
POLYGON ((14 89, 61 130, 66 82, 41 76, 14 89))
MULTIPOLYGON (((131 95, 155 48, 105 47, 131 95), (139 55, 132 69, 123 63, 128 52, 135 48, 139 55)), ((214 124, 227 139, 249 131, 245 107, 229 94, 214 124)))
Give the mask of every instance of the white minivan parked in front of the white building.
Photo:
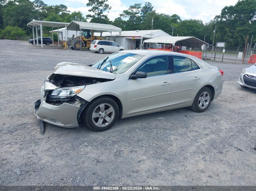
POLYGON ((91 42, 90 50, 94 51, 95 53, 103 54, 104 52, 107 53, 115 53, 117 51, 124 50, 125 48, 119 46, 114 41, 108 40, 94 40, 91 42))

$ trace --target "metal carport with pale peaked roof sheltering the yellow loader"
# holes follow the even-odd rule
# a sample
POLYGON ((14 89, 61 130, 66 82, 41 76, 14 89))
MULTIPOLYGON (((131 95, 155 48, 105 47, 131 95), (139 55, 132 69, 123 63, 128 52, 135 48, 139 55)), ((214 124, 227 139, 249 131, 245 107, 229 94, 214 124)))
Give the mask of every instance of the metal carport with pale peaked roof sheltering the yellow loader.
MULTIPOLYGON (((100 23, 88 23, 88 22, 81 22, 81 21, 71 21, 71 23, 67 26, 67 30, 76 30, 80 33, 82 32, 81 29, 88 29, 94 30, 94 32, 100 32, 102 36, 102 31, 109 31, 109 32, 119 32, 120 33, 120 40, 121 40, 121 32, 122 29, 116 27, 111 24, 100 24, 100 23)), ((82 50, 82 45, 80 46, 82 50)))

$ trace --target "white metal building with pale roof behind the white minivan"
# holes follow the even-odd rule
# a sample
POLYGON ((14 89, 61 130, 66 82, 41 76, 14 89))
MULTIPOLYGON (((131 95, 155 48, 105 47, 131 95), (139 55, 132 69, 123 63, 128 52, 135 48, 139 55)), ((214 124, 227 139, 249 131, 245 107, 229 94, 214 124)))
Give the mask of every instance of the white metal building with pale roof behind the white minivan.
MULTIPOLYGON (((100 33, 94 33, 95 36, 100 36, 100 33)), ((121 38, 119 32, 103 32, 102 37, 105 40, 110 40, 118 43, 120 46, 123 46, 126 50, 130 49, 148 49, 149 43, 144 43, 143 41, 146 39, 159 37, 159 36, 167 36, 171 37, 171 35, 165 33, 162 30, 130 30, 130 31, 122 31, 121 38)), ((151 43, 150 48, 156 48, 156 43, 151 43)))

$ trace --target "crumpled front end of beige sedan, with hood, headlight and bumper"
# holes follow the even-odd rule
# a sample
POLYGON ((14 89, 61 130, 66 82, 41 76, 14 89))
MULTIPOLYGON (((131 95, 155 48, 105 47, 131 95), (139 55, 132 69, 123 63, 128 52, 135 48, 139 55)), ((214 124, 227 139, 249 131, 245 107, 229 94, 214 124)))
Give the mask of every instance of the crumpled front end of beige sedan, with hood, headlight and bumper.
POLYGON ((115 79, 112 73, 105 74, 105 76, 104 74, 89 66, 59 63, 53 74, 44 80, 40 100, 35 102, 35 115, 38 119, 53 125, 67 128, 77 127, 80 115, 88 103, 78 96, 79 93, 87 85, 115 79))

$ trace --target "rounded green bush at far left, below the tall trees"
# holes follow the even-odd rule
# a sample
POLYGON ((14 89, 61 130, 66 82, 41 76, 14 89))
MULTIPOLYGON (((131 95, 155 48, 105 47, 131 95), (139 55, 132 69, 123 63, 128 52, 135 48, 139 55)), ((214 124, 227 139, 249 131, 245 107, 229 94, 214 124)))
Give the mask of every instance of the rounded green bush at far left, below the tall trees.
POLYGON ((26 31, 20 27, 7 26, 1 31, 0 37, 3 39, 17 40, 19 37, 25 37, 26 31))

